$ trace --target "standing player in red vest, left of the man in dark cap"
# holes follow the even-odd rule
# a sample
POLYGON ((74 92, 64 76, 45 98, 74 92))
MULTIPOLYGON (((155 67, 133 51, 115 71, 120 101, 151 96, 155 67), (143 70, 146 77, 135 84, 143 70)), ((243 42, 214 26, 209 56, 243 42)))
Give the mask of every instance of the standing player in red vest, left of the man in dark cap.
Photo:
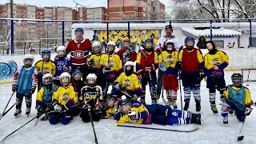
POLYGON ((150 84, 150 94, 152 104, 156 103, 156 87, 158 69, 158 54, 154 51, 154 42, 152 38, 146 38, 146 48, 140 50, 136 60, 136 70, 138 78, 142 82, 141 101, 145 103, 146 84, 150 84))

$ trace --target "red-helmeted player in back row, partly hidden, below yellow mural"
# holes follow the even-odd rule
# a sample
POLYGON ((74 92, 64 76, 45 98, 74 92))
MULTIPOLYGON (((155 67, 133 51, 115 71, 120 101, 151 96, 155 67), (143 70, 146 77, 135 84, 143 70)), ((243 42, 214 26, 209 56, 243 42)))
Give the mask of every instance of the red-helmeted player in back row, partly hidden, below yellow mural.
POLYGON ((134 46, 131 45, 130 39, 125 39, 122 42, 121 50, 118 50, 117 54, 122 58, 122 65, 124 65, 127 61, 135 62, 137 58, 137 53, 134 49, 134 46))

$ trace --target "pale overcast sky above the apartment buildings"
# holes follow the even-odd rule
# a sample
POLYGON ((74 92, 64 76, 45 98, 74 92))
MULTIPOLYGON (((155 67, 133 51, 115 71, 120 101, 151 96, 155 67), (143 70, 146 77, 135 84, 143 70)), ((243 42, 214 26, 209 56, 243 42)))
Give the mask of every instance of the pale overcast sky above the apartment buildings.
MULTIPOLYGON (((107 0, 74 0, 78 2, 82 6, 87 7, 96 7, 96 6, 106 6, 107 0)), ((0 0, 0 4, 10 2, 10 0, 0 0)), ((168 0, 160 0, 166 4, 168 0)), ((75 3, 72 0, 14 0, 14 3, 20 4, 28 4, 28 5, 35 5, 35 6, 68 6, 68 7, 75 7, 75 3)))

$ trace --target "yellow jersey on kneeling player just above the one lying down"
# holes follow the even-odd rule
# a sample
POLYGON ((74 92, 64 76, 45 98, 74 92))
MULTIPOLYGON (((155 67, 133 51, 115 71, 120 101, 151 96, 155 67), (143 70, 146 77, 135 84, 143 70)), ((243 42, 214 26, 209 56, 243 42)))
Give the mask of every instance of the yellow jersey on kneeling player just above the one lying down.
POLYGON ((125 72, 119 75, 119 77, 114 81, 114 84, 121 83, 122 87, 130 94, 140 95, 142 93, 142 83, 138 80, 136 74, 131 74, 126 76, 125 72))

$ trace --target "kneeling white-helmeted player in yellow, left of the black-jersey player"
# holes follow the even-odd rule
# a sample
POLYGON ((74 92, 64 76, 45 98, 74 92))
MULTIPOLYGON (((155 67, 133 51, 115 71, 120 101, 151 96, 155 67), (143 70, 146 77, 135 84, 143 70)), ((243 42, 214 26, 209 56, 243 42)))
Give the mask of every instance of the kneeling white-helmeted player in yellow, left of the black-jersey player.
POLYGON ((54 113, 50 114, 49 122, 55 125, 62 122, 63 125, 70 123, 72 119, 72 106, 78 102, 78 93, 75 87, 70 83, 71 75, 67 72, 59 76, 62 86, 59 86, 54 91, 52 105, 54 106, 54 113))

